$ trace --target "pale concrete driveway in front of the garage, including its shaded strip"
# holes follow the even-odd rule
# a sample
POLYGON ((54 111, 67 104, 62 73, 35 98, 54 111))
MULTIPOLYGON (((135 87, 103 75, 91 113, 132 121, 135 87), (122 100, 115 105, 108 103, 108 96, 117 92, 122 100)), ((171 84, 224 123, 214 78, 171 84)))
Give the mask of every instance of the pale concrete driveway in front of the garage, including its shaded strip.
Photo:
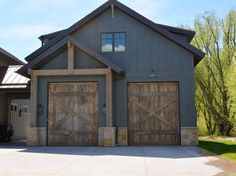
POLYGON ((0 147, 0 176, 234 175, 217 160, 197 147, 0 147))

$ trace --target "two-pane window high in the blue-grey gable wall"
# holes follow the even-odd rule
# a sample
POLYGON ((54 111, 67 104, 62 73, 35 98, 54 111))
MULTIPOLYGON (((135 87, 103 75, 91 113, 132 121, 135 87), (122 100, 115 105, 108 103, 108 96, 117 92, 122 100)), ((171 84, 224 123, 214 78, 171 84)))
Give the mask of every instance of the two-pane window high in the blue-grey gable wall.
POLYGON ((102 52, 124 52, 126 49, 125 33, 103 33, 101 38, 102 52))

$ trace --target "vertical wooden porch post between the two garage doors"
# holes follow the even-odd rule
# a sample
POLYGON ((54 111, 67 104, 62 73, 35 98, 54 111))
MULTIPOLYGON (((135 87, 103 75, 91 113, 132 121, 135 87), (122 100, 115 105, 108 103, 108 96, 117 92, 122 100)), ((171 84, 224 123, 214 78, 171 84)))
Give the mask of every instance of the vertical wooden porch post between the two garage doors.
POLYGON ((106 127, 112 127, 112 71, 106 74, 106 127))

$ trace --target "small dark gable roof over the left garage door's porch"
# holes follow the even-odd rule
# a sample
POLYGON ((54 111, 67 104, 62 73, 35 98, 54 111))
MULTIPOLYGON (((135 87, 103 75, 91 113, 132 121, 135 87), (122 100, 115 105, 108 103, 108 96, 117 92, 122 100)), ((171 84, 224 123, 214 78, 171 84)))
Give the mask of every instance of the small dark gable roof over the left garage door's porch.
POLYGON ((85 52, 87 55, 91 56, 98 62, 106 65, 107 67, 110 67, 112 70, 119 74, 123 74, 124 71, 119 68, 118 66, 111 63, 108 59, 104 58, 103 56, 97 54, 92 49, 86 47, 76 39, 74 39, 72 36, 67 36, 63 38, 61 41, 57 42, 55 45, 53 45, 50 49, 46 50, 45 52, 42 52, 39 54, 35 59, 29 61, 24 67, 22 67, 18 72, 22 75, 27 76, 28 68, 38 68, 45 63, 50 62, 50 60, 47 59, 48 56, 50 56, 52 53, 60 50, 60 48, 65 48, 67 45, 67 42, 71 42, 75 47, 79 48, 81 51, 85 52))

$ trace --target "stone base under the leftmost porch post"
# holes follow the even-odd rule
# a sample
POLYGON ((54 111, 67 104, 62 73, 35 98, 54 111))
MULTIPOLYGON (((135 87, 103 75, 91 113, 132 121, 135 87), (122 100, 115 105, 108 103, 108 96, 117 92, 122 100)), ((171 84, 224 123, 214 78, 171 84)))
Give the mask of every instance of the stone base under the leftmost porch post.
POLYGON ((27 131, 27 146, 46 146, 46 128, 30 127, 27 131))

